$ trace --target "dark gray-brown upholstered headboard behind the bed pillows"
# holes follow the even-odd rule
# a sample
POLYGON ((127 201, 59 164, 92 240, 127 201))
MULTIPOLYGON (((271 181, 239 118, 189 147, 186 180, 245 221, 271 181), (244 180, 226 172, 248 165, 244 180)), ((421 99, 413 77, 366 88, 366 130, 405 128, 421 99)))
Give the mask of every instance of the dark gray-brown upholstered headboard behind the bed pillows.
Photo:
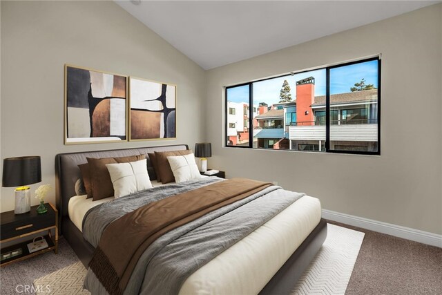
POLYGON ((75 182, 81 178, 79 164, 87 163, 87 158, 124 157, 127 155, 146 155, 148 167, 152 166, 147 153, 154 151, 177 151, 189 149, 187 144, 170 146, 148 146, 135 149, 114 149, 108 151, 84 151, 79 153, 60 153, 55 156, 56 198, 60 217, 68 215, 69 199, 75 196, 75 182))

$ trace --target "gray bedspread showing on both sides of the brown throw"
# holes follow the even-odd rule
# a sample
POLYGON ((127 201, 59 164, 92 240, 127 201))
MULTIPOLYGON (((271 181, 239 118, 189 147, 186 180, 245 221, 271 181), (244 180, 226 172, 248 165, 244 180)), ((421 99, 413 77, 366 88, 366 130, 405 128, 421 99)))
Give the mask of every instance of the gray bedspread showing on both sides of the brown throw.
MULTIPOLYGON (((124 213, 218 181, 221 179, 211 177, 157 187, 94 207, 84 217, 84 237, 96 247, 106 226, 124 213)), ((169 231, 144 251, 124 294, 178 294, 186 278, 198 268, 302 196, 280 187, 268 187, 169 231)), ((84 285, 92 294, 107 293, 90 269, 84 285)))

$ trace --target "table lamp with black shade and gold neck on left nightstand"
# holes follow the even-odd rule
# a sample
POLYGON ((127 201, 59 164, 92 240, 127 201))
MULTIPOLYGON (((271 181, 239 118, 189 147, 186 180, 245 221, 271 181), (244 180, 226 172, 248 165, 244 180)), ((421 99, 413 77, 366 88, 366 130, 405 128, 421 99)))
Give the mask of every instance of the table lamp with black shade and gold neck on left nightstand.
POLYGON ((17 187, 14 213, 21 214, 30 211, 30 187, 26 186, 37 182, 41 182, 41 164, 38 155, 3 160, 1 186, 17 187))

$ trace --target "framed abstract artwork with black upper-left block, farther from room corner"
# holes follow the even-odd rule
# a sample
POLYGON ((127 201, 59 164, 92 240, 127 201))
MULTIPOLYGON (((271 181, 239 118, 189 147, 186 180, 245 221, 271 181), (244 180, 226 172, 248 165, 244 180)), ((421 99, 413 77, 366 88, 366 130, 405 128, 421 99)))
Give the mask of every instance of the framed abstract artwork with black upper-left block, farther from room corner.
POLYGON ((65 66, 65 144, 127 140, 127 77, 65 66))

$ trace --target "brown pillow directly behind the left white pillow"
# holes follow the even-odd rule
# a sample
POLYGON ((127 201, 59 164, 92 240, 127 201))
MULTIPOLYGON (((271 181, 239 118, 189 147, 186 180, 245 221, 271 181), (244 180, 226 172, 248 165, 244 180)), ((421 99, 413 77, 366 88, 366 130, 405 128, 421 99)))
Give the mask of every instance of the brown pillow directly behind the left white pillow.
POLYGON ((135 162, 146 159, 146 155, 130 155, 120 158, 86 158, 89 164, 93 201, 113 196, 113 184, 106 164, 135 162))

